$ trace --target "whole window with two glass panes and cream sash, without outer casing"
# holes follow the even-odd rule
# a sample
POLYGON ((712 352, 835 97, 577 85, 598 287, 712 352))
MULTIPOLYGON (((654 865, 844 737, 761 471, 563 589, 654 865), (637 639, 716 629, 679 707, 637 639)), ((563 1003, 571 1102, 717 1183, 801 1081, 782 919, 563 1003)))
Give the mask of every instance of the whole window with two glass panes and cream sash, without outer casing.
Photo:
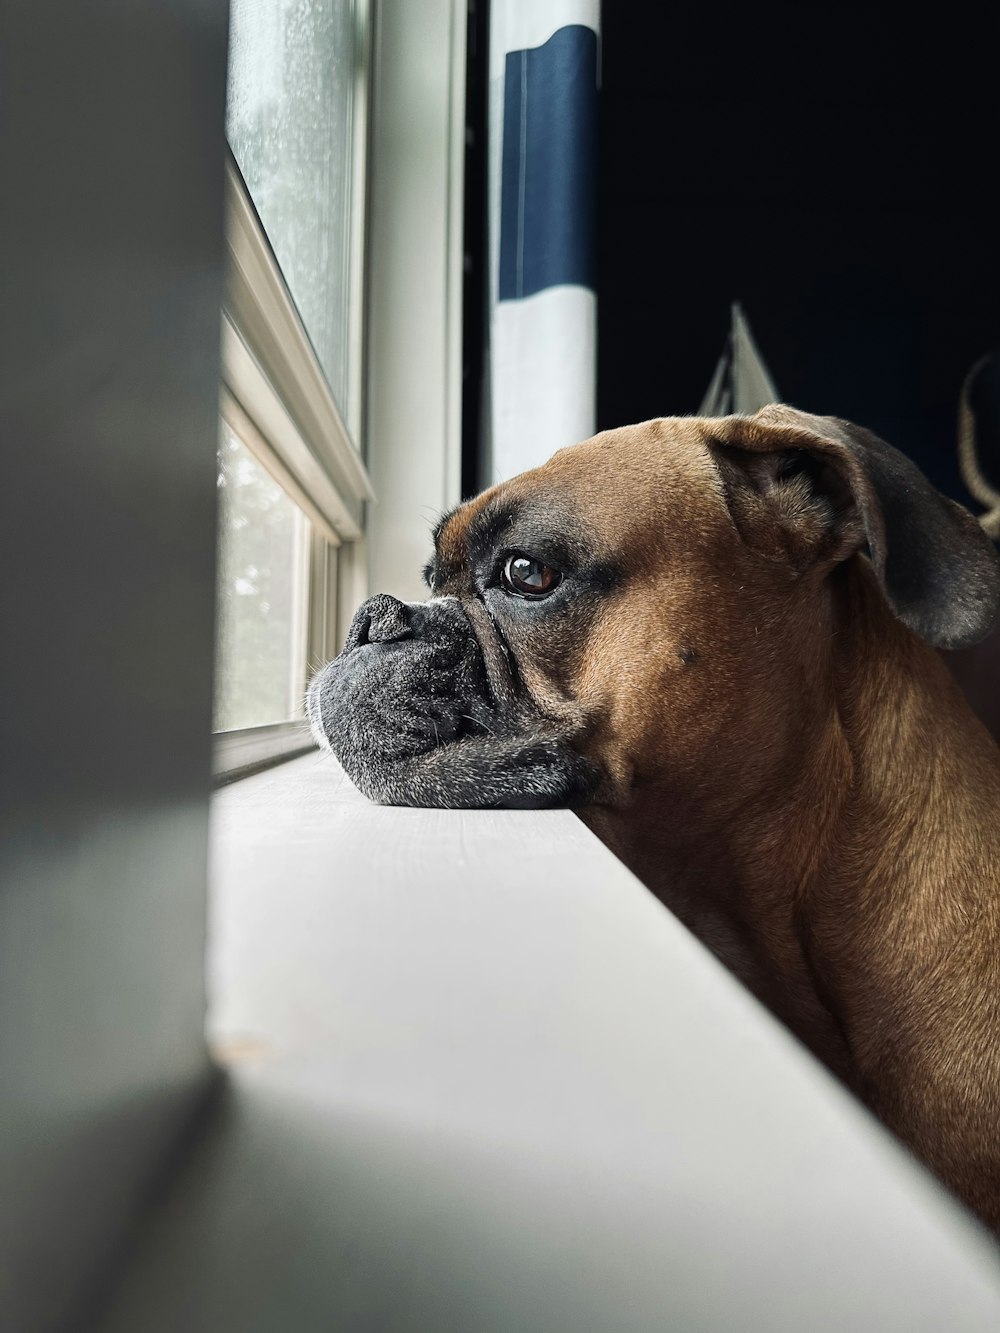
POLYGON ((367 0, 232 0, 216 772, 309 744, 365 591, 367 0))

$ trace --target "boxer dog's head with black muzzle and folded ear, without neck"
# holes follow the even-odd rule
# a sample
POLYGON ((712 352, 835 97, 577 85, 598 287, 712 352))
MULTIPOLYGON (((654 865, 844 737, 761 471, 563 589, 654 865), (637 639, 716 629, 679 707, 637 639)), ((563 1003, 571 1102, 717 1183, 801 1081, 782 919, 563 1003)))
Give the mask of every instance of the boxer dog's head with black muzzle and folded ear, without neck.
POLYGON ((428 601, 367 601, 309 718, 373 800, 621 802, 751 761, 761 718, 793 741, 860 553, 929 644, 996 619, 979 525, 869 432, 788 407, 609 431, 447 515, 428 601))

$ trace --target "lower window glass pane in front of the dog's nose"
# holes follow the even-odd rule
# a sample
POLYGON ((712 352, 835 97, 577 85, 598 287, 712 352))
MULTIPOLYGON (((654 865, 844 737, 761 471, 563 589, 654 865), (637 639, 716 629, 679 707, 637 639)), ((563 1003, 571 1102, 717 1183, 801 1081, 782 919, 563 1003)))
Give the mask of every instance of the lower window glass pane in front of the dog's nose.
POLYGON ((223 423, 219 441, 217 732, 301 716, 308 521, 223 423))

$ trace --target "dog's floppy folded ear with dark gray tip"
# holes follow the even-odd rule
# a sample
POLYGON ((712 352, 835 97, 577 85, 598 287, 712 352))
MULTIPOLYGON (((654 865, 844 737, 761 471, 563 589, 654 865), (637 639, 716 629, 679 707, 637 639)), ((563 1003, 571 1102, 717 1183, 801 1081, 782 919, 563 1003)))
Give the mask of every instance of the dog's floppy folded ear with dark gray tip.
POLYGON ((899 449, 779 404, 707 427, 747 545, 796 569, 867 548, 893 613, 928 644, 967 648, 989 633, 1000 615, 993 545, 899 449))

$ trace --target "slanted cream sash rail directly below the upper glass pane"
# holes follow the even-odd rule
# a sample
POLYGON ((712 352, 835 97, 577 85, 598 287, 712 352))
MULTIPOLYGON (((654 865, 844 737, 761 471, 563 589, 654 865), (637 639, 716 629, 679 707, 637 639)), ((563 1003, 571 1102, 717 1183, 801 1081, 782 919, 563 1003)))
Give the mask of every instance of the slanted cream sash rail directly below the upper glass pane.
MULTIPOLYGON (((267 241, 232 155, 225 172, 228 272, 225 312, 284 403, 313 457, 341 496, 373 500, 361 456, 348 435, 316 353, 267 241)), ((352 293, 353 295, 353 293, 352 293)), ((239 383, 229 383, 240 399, 239 383)))

